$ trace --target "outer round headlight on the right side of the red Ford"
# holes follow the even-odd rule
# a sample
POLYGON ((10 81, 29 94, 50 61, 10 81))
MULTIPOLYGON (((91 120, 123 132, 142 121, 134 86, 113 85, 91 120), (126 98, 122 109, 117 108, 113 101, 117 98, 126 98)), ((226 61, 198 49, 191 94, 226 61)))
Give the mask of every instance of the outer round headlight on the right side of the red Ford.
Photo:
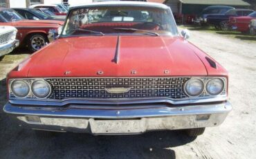
POLYGON ((210 79, 210 81, 206 85, 206 91, 210 95, 218 95, 223 91, 224 83, 219 78, 210 79))

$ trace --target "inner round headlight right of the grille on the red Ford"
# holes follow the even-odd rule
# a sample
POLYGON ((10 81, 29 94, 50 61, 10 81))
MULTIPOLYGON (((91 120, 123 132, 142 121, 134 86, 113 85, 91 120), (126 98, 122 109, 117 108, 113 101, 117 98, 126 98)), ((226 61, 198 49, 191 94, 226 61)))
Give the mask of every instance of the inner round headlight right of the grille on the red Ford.
POLYGON ((190 79, 185 84, 185 91, 191 96, 200 95, 203 91, 203 82, 200 79, 190 79))

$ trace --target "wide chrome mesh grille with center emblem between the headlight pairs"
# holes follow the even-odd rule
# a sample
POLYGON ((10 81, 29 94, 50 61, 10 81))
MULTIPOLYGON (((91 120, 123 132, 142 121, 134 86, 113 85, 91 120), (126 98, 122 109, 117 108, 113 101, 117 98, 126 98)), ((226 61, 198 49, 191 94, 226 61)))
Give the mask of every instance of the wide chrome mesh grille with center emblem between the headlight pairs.
POLYGON ((68 98, 122 99, 168 97, 182 99, 183 84, 188 77, 136 78, 53 78, 46 79, 53 86, 50 99, 68 98), (129 88, 127 93, 108 93, 105 88, 129 88))

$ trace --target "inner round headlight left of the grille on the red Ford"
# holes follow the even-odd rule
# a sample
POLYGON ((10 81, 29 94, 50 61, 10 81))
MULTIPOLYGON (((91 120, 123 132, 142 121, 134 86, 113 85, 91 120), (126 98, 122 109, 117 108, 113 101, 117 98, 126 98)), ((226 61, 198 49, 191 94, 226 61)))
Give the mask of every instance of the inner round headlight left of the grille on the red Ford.
POLYGON ((37 80, 33 82, 31 90, 37 97, 47 97, 51 93, 51 86, 44 80, 37 80))

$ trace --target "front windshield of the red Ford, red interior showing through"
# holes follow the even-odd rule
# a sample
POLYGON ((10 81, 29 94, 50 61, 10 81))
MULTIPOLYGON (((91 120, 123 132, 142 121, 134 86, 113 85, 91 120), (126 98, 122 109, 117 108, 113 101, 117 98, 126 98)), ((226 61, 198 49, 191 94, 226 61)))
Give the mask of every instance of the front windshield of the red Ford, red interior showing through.
POLYGON ((62 36, 95 35, 95 32, 99 35, 178 35, 170 9, 104 6, 71 10, 62 36))

